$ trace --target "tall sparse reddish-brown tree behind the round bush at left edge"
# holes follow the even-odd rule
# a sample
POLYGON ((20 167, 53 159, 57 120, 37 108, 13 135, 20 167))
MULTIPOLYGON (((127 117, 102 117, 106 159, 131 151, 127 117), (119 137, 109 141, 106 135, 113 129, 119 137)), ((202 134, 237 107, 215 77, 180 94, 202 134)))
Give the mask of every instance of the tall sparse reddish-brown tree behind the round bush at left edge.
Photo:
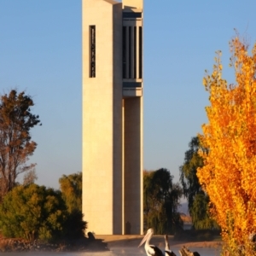
POLYGON ((16 177, 30 171, 35 164, 26 165, 37 148, 30 130, 41 125, 39 116, 31 112, 31 96, 24 91, 10 90, 0 97, 0 200, 15 187, 16 177))

